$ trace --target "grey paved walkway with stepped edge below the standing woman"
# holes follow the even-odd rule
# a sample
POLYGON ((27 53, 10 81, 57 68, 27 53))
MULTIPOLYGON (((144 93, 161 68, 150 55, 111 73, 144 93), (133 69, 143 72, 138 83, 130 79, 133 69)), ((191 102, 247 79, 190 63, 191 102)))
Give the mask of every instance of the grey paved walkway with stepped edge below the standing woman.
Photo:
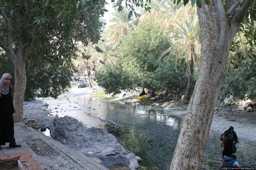
POLYGON ((42 170, 108 170, 93 159, 21 122, 14 124, 14 131, 16 143, 22 146, 13 148, 6 143, 2 145, 0 155, 29 152, 42 170))

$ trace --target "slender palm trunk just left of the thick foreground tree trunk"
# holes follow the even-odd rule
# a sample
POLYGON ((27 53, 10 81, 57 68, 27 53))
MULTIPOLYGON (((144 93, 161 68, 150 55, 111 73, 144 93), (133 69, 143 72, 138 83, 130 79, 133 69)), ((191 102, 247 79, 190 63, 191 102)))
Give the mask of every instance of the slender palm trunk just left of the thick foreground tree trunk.
POLYGON ((191 91, 193 89, 193 74, 194 74, 194 49, 190 48, 190 61, 189 61, 189 75, 188 75, 188 85, 187 90, 184 95, 183 100, 189 101, 191 97, 191 91))

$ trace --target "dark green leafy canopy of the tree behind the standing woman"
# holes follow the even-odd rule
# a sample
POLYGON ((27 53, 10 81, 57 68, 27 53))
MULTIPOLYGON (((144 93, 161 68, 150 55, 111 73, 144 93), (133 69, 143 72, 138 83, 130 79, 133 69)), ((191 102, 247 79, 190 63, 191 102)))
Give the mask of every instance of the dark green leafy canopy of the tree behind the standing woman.
POLYGON ((27 48, 26 100, 38 89, 42 96, 54 98, 68 89, 77 42, 98 42, 105 4, 105 0, 1 0, 0 46, 13 46, 16 55, 20 46, 27 48))

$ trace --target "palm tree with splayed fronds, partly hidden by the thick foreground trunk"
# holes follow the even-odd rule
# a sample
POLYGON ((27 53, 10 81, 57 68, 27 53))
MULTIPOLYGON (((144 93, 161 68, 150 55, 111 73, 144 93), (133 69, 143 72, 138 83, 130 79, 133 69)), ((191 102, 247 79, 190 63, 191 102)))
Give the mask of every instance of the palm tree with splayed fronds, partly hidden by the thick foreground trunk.
POLYGON ((175 69, 177 71, 176 64, 178 58, 183 56, 182 54, 184 54, 184 51, 186 52, 185 56, 189 71, 188 85, 183 99, 186 101, 189 101, 191 97, 190 93, 193 88, 193 67, 194 63, 199 63, 198 58, 200 57, 201 52, 199 22, 196 17, 193 20, 191 18, 192 17, 187 17, 186 21, 182 20, 182 24, 176 22, 176 25, 173 25, 173 29, 171 29, 172 36, 170 36, 170 38, 173 39, 174 42, 160 56, 162 57, 170 52, 168 55, 169 59, 176 51, 175 69))

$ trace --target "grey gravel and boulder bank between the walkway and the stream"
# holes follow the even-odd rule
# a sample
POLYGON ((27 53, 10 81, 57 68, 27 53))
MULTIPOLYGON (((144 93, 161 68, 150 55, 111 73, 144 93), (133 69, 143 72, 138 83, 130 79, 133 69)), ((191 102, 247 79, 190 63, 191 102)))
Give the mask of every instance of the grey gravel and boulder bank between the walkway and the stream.
MULTIPOLYGON (((80 95, 84 94, 81 91, 80 89, 73 88, 70 93, 80 92, 80 95)), ((83 91, 87 92, 86 96, 89 98, 89 94, 95 92, 96 89, 84 88, 83 91)), ((64 95, 64 98, 66 97, 64 95)), ((27 126, 37 130, 49 128, 52 138, 91 157, 109 169, 134 170, 139 167, 138 161, 141 160, 140 157, 125 150, 117 142, 116 137, 108 133, 106 128, 87 128, 83 124, 88 124, 90 120, 82 124, 70 116, 58 117, 58 113, 64 112, 63 108, 68 107, 68 109, 66 108, 67 111, 71 112, 72 109, 76 110, 79 105, 70 105, 69 102, 67 104, 62 102, 62 105, 60 105, 58 102, 61 99, 57 99, 58 102, 54 102, 54 99, 48 99, 47 101, 50 106, 44 102, 44 99, 24 102, 23 122, 27 126), (52 103, 54 103, 54 108, 51 108, 52 103), (57 110, 58 108, 59 111, 57 110)))

